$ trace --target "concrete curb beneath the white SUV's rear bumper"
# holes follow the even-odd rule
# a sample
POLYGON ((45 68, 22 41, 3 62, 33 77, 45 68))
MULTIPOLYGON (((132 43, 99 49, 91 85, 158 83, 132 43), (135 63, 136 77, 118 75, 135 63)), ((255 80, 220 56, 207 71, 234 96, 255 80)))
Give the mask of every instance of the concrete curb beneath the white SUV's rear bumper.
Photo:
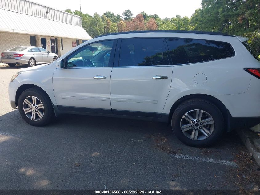
POLYGON ((253 132, 248 128, 237 129, 240 139, 245 144, 246 148, 252 153, 252 156, 260 166, 260 148, 254 143, 258 143, 260 137, 257 132, 253 132))

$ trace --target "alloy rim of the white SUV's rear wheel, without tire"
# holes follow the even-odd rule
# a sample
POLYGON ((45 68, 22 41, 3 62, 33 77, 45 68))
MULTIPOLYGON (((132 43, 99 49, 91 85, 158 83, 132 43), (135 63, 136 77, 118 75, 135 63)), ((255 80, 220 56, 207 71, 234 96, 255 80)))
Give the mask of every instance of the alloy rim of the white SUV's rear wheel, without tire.
POLYGON ((182 116, 180 127, 191 140, 204 140, 214 131, 214 120, 204 110, 190 110, 182 116))

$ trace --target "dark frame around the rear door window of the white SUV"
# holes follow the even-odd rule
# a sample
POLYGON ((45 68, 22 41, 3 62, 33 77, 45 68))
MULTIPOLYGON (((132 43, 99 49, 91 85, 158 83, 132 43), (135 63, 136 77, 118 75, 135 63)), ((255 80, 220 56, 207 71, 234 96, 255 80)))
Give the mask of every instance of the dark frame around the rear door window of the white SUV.
POLYGON ((114 66, 113 67, 166 67, 166 66, 172 66, 170 59, 169 59, 169 49, 168 49, 168 45, 165 44, 166 43, 166 38, 165 37, 125 37, 125 38, 119 38, 118 42, 117 42, 117 46, 116 46, 116 51, 115 51, 115 57, 114 57, 114 66), (121 50, 121 42, 123 39, 162 39, 162 44, 165 47, 166 50, 166 55, 168 58, 168 62, 169 65, 152 65, 152 66, 119 66, 119 59, 120 59, 120 50, 121 50))

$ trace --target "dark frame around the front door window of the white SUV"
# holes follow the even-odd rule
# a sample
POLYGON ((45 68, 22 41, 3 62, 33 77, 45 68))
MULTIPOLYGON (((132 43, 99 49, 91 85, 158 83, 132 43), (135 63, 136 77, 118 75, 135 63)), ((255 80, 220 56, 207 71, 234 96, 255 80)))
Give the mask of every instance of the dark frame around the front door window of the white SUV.
POLYGON ((70 55, 67 55, 63 60, 64 60, 64 68, 65 69, 71 69, 71 68, 76 68, 76 69, 81 69, 81 68, 109 68, 109 67, 113 67, 113 62, 114 62, 114 57, 115 57, 115 49, 116 49, 116 45, 117 45, 117 42, 118 42, 118 39, 102 39, 102 40, 98 40, 98 41, 93 41, 91 43, 88 43, 86 45, 82 45, 82 47, 79 47, 77 50, 73 51, 72 53, 70 53, 70 55), (82 49, 83 47, 86 47, 90 44, 93 44, 93 43, 99 43, 99 42, 104 42, 104 41, 114 41, 113 45, 112 45, 112 49, 111 49, 111 52, 110 52, 110 58, 109 59, 109 62, 111 60, 111 64, 108 63, 108 66, 106 67, 67 67, 67 59, 73 55, 74 53, 76 53, 77 51, 79 51, 80 49, 82 49), (111 56, 111 53, 112 53, 112 56, 111 56))

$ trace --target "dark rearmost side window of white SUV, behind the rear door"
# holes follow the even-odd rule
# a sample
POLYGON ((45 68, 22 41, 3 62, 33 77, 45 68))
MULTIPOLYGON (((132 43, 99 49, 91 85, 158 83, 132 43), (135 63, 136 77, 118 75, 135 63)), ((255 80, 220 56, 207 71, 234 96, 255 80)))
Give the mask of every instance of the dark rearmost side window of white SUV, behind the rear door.
POLYGON ((174 65, 206 62, 234 56, 229 43, 204 39, 166 39, 174 65))

